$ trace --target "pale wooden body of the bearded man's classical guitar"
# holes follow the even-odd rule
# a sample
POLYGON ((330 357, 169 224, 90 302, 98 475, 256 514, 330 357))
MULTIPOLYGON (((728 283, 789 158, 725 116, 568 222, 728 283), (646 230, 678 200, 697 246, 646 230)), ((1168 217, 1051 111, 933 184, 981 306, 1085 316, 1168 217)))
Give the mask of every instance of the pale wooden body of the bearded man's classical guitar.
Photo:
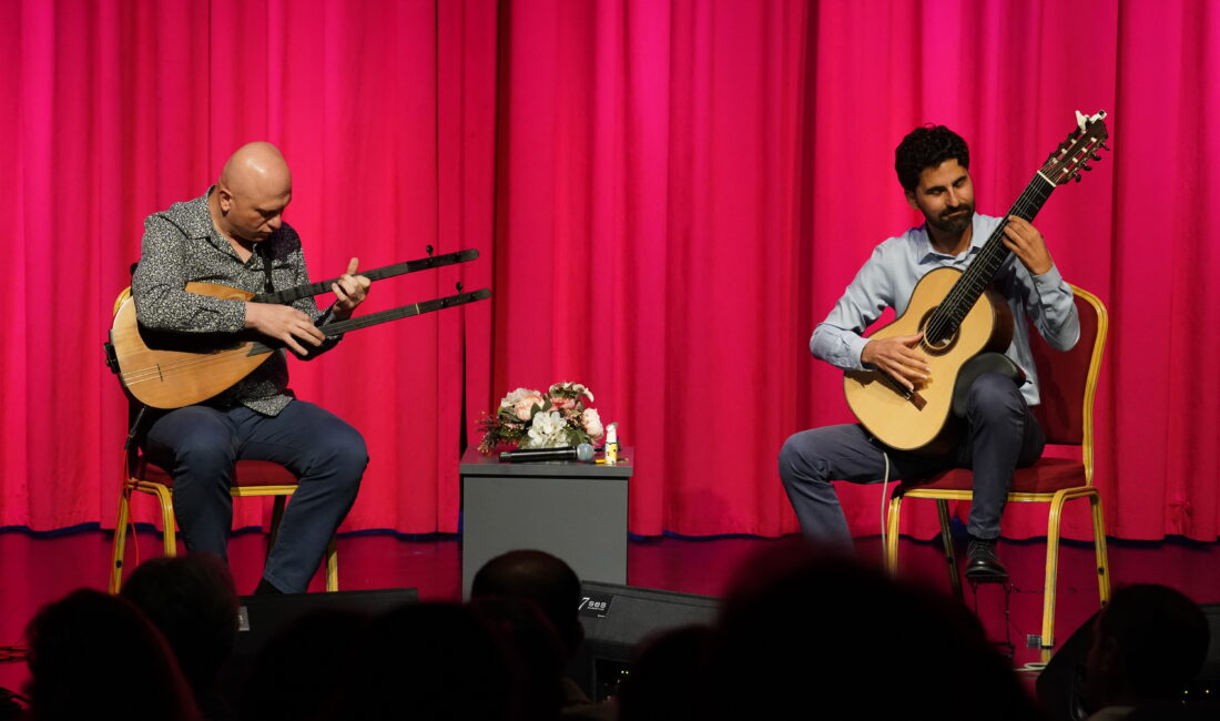
MULTIPOLYGON (((954 288, 961 272, 936 268, 920 278, 906 311, 870 339, 914 335, 926 331, 935 311, 954 288)), ((954 440, 953 389, 961 366, 980 353, 1003 353, 1013 342, 1013 314, 1003 296, 987 289, 966 314, 958 331, 941 343, 919 350, 927 356, 930 378, 913 393, 877 371, 848 371, 843 378, 847 403, 860 423, 891 448, 927 454, 944 453, 954 440)))

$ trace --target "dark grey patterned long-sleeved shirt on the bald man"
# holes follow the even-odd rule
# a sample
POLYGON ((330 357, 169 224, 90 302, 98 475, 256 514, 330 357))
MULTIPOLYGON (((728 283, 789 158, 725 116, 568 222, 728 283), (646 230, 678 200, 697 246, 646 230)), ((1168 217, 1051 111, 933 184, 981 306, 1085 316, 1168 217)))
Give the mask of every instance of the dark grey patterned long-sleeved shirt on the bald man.
MULTIPOLYGON (((262 293, 267 290, 268 261, 276 290, 310 282, 300 237, 288 223, 255 244, 254 254, 243 262, 212 226, 207 198, 214 190, 215 185, 194 200, 174 203, 145 218, 140 262, 132 277, 135 315, 142 326, 182 333, 237 333, 245 327, 245 301, 187 293, 187 283, 216 283, 262 293)), ((331 320, 331 310, 318 312, 312 298, 292 305, 318 326, 331 320)), ((339 337, 327 338, 306 360, 329 350, 338 340, 339 337)), ((272 353, 249 376, 205 405, 240 404, 267 416, 278 415, 293 399, 285 356, 283 349, 272 353)))

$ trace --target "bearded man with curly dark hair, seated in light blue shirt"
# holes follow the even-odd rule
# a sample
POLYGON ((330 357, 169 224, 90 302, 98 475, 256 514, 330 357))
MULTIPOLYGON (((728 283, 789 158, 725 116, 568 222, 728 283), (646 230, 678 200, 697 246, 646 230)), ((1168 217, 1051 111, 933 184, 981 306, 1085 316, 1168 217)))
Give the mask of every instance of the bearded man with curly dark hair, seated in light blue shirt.
MULTIPOLYGON (((906 201, 924 215, 925 223, 877 245, 834 309, 814 329, 809 348, 837 367, 882 371, 906 389, 919 390, 931 381, 931 367, 920 346, 922 333, 884 339, 866 339, 861 333, 886 307, 900 316, 915 284, 928 271, 967 267, 1003 220, 975 213, 970 151, 953 131, 943 126, 915 128, 903 138, 894 156, 906 201)), ((875 483, 887 475, 887 468, 889 478, 972 468, 966 577, 1008 577, 996 554, 1008 487, 1014 468, 1033 464, 1046 444, 1030 411, 1039 396, 1026 318, 1060 350, 1076 344, 1080 321, 1071 288, 1060 277, 1037 228, 1010 216, 1004 245, 1013 255, 994 279, 1013 312, 1013 343, 1005 355, 1028 382, 1017 387, 1005 375, 980 375, 966 395, 966 432, 943 454, 887 448, 860 425, 814 428, 789 437, 780 451, 780 477, 805 536, 850 544, 831 481, 875 483)))

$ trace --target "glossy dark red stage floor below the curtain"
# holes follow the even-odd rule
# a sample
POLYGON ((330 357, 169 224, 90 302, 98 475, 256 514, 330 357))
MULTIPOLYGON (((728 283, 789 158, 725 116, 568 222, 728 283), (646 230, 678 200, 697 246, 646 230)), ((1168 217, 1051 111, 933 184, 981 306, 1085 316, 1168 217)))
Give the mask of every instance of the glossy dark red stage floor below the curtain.
MULTIPOLYGON (((160 536, 139 534, 143 558, 161 554, 160 536)), ((721 595, 743 560, 782 540, 764 538, 650 538, 628 544, 631 586, 683 593, 721 595)), ((106 588, 110 566, 110 532, 87 529, 56 534, 32 534, 22 529, 0 532, 0 645, 21 643, 22 631, 43 604, 81 587, 106 588)), ((880 538, 858 539, 861 558, 880 559, 880 538)), ((1111 540, 1113 583, 1164 583, 1198 603, 1220 603, 1220 544, 1170 539, 1160 543, 1111 540)), ((229 559, 240 593, 257 584, 262 566, 264 536, 238 533, 229 544, 229 559)), ((980 587, 966 603, 976 609, 991 638, 1010 639, 1016 649, 1014 665, 1037 661, 1038 653, 1025 647, 1027 634, 1041 632, 1046 542, 1003 542, 1000 554, 1014 586, 1008 598, 1000 587, 980 587)), ((904 573, 949 590, 938 542, 902 542, 904 573)), ((128 564, 133 564, 128 548, 128 564)), ((454 536, 399 537, 360 533, 339 538, 339 583, 344 590, 417 588, 421 600, 456 600, 461 597, 461 542, 454 536)), ((321 575, 311 590, 321 590, 321 575)), ((1093 550, 1083 543, 1065 542, 1060 549, 1059 603, 1055 609, 1058 645, 1098 608, 1093 550)), ((17 689, 26 678, 23 662, 0 662, 0 687, 17 689)))

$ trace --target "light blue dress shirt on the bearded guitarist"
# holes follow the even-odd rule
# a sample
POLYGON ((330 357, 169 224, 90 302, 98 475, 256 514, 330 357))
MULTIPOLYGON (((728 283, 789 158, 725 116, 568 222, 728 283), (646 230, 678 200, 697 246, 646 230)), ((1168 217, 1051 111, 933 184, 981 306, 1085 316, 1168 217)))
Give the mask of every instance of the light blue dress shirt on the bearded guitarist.
MULTIPOLYGON (((814 328, 809 350, 839 368, 864 370, 860 351, 869 340, 860 333, 881 317, 887 307, 893 307, 902 316, 915 284, 928 271, 942 266, 964 271, 999 223, 1000 218, 975 213, 970 248, 956 256, 937 253, 932 248, 926 223, 884 240, 874 249, 872 257, 856 273, 826 320, 814 328)), ((1070 350, 1080 338, 1080 317, 1076 315, 1071 287, 1064 282, 1055 266, 1041 276, 1031 276, 1011 254, 997 271, 993 284, 1008 299, 1008 306, 1013 310, 1013 343, 1004 353, 1021 366, 1030 379, 1021 387, 1026 403, 1037 405, 1038 371, 1030 353, 1026 318, 1033 322, 1053 348, 1070 350)))

